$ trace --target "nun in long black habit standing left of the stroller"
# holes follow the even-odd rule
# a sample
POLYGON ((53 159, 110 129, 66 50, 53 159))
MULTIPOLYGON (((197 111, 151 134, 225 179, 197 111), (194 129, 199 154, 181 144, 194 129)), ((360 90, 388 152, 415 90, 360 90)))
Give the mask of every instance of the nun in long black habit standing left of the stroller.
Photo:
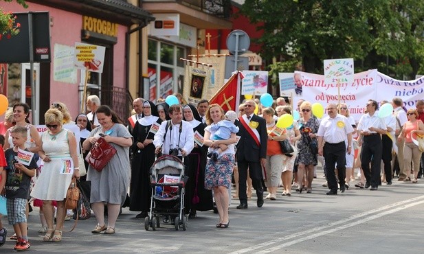
POLYGON ((160 126, 157 108, 153 102, 143 103, 142 118, 135 123, 133 130, 133 161, 131 162, 130 210, 141 211, 135 218, 145 218, 150 210, 150 168, 155 162, 154 132, 150 131, 153 124, 160 126))

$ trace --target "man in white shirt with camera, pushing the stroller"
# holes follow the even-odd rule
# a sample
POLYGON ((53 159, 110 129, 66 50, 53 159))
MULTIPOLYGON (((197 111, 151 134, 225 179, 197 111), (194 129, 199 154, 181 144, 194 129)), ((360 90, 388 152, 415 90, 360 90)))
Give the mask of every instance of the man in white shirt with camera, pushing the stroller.
POLYGON ((162 122, 155 134, 153 144, 155 153, 172 154, 185 157, 194 148, 194 132, 190 123, 183 121, 181 105, 174 104, 169 107, 169 121, 162 122))

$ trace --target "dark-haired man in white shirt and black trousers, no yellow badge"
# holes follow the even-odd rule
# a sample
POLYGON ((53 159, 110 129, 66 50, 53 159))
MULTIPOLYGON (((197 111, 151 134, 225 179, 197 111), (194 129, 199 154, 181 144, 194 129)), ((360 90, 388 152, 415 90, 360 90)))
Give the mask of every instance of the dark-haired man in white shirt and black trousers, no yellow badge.
POLYGON ((366 183, 365 188, 371 186, 370 190, 377 190, 379 187, 381 171, 381 134, 387 133, 386 122, 380 119, 376 111, 379 104, 375 100, 369 100, 366 104, 366 113, 359 119, 358 130, 361 134, 358 139, 361 149, 361 167, 364 172, 366 183), (371 169, 370 169, 371 163, 371 169))

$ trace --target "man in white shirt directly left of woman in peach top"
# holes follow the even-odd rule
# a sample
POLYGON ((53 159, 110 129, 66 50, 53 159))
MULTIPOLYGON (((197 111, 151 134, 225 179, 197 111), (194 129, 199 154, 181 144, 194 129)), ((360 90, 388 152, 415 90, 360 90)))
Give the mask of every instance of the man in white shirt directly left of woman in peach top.
POLYGON ((408 122, 408 117, 406 116, 406 112, 402 108, 403 101, 401 98, 394 97, 392 99, 392 105, 393 105, 393 116, 396 119, 396 130, 394 132, 394 135, 395 135, 394 138, 396 140, 396 145, 398 150, 397 154, 393 154, 393 157, 392 157, 392 170, 394 173, 394 163, 397 157, 397 161, 399 162, 399 178, 397 179, 397 181, 403 181, 406 178, 405 167, 403 167, 403 146, 405 145, 405 141, 403 139, 399 141, 398 137, 399 137, 399 133, 401 133, 402 131, 403 124, 405 124, 405 122, 408 122))

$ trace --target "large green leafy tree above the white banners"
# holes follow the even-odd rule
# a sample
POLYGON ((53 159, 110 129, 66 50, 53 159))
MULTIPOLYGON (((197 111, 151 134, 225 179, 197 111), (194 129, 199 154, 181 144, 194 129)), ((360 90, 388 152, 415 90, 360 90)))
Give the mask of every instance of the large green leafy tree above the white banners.
MULTIPOLYGON (((301 62, 304 71, 323 73, 323 60, 354 58, 355 70, 379 68, 391 76, 412 76, 423 60, 423 7, 419 0, 246 0, 252 23, 263 23, 256 43, 267 69, 301 62)), ((282 69, 281 71, 293 71, 282 69)))

